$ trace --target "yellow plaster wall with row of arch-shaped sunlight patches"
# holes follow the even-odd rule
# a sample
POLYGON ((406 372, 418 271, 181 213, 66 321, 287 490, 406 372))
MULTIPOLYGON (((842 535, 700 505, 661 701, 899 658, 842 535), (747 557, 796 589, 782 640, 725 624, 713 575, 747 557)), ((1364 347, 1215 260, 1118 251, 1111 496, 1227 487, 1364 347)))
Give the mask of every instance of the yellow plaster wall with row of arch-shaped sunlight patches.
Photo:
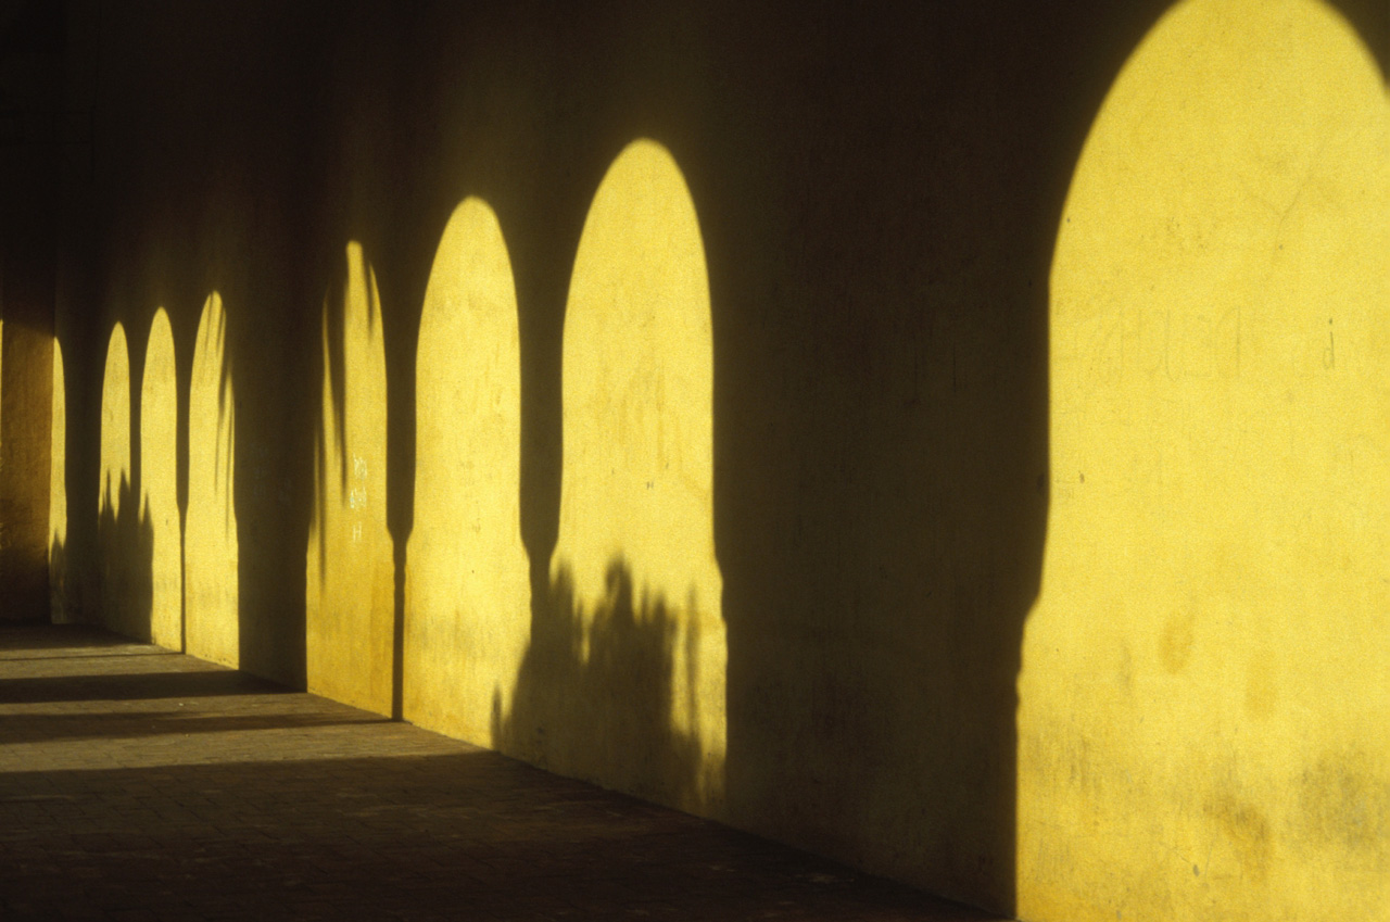
POLYGON ((1169 7, 71 0, 57 595, 172 645, 182 528, 218 662, 1031 918, 1386 918, 1390 11, 1169 7))

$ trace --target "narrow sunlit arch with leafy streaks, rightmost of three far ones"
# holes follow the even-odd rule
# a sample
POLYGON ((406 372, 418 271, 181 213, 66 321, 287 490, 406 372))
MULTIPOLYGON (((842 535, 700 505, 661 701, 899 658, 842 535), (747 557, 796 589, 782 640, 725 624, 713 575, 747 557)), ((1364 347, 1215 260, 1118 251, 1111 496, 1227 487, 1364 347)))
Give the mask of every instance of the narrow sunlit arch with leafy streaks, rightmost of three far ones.
POLYGON ((213 292, 203 305, 188 394, 188 526, 183 606, 188 652, 236 666, 236 402, 227 363, 227 313, 213 292))

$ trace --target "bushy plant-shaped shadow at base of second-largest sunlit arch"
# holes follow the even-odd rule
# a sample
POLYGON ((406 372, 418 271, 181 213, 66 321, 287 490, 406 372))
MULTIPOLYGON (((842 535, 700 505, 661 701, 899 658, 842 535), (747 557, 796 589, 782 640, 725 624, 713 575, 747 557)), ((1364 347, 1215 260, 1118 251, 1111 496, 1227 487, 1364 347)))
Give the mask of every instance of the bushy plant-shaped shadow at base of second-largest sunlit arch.
MULTIPOLYGON (((585 612, 562 570, 535 602, 531 644, 503 711, 492 699, 492 738, 509 755, 571 777, 666 804, 698 801, 701 741, 673 727, 676 644, 698 645, 662 595, 634 594, 614 558, 605 599, 585 612)), ((694 654, 687 658, 694 663, 694 654)), ((689 687, 696 687, 691 676, 689 687)))

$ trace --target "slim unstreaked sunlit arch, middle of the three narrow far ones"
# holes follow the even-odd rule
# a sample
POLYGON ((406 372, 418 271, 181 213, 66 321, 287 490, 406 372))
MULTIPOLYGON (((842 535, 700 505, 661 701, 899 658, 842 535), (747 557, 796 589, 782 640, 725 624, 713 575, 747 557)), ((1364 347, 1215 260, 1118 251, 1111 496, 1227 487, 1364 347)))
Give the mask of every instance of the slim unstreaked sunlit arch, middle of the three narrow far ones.
POLYGON ((150 640, 183 648, 183 560, 178 515, 178 378, 174 331, 160 307, 140 387, 140 519, 150 533, 150 640))

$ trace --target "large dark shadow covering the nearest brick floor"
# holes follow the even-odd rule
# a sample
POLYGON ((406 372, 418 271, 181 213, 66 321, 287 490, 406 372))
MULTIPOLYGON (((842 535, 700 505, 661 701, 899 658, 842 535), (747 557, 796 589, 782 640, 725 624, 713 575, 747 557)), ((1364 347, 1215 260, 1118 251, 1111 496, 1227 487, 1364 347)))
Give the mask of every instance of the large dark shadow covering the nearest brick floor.
POLYGON ((15 915, 990 918, 482 751, 0 775, 0 829, 15 915))

